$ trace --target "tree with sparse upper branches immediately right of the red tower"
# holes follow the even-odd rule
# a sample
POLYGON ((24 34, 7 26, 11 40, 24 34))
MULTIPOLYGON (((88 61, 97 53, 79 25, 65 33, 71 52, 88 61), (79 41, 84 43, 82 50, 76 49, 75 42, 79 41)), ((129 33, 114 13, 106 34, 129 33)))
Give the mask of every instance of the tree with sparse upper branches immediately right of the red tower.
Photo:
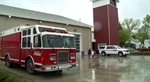
POLYGON ((123 46, 125 42, 130 40, 132 37, 136 38, 137 35, 133 30, 137 30, 140 25, 140 20, 133 20, 132 18, 124 19, 124 21, 119 24, 120 33, 120 45, 123 46))

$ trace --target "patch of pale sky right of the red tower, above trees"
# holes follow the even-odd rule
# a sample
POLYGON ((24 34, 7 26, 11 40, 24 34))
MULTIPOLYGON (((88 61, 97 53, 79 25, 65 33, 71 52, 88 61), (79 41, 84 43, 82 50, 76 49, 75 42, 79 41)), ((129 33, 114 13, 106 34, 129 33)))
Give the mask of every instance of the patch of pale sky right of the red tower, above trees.
POLYGON ((118 3, 119 20, 134 18, 142 20, 150 15, 150 0, 120 0, 118 3))

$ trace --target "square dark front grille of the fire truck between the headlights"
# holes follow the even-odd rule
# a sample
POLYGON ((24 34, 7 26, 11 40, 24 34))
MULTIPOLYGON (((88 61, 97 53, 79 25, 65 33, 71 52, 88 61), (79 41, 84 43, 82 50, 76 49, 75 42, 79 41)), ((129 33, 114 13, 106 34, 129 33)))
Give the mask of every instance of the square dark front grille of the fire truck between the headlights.
POLYGON ((58 52, 58 63, 68 63, 68 52, 58 52))

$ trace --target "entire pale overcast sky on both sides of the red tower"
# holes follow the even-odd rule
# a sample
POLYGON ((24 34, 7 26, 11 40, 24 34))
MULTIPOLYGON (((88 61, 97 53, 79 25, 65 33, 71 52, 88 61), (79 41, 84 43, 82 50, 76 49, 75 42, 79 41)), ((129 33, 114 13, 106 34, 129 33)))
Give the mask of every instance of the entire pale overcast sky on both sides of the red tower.
MULTIPOLYGON (((90 0, 0 0, 0 4, 65 16, 93 25, 93 5, 90 0)), ((120 0, 119 21, 125 18, 143 19, 150 15, 150 0, 120 0)))

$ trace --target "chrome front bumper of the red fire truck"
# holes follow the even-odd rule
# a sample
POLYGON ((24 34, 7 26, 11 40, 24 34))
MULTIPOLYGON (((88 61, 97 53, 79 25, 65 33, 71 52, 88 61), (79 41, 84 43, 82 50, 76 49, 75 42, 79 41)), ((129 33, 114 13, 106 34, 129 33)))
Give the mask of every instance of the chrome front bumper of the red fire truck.
POLYGON ((58 65, 50 65, 50 66, 42 66, 40 69, 35 69, 37 71, 57 71, 57 70, 62 70, 62 69, 71 69, 74 67, 78 67, 78 63, 69 63, 69 64, 58 64, 58 65))

